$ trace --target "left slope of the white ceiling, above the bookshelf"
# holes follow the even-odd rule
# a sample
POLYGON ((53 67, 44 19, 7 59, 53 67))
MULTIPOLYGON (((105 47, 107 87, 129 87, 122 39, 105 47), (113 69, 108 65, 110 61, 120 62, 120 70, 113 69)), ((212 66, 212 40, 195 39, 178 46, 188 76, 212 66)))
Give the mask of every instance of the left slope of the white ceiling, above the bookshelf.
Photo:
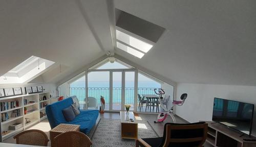
POLYGON ((0 75, 34 55, 69 68, 42 75, 56 82, 105 54, 77 1, 1 1, 0 12, 0 75))

